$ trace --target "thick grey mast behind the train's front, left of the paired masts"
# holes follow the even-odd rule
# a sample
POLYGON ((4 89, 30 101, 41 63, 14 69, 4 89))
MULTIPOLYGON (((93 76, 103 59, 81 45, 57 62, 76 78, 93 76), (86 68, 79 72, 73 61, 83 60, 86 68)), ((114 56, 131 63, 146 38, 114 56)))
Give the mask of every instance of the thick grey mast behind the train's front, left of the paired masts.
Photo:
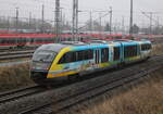
POLYGON ((55 0, 55 34, 57 42, 60 42, 60 0, 55 0))

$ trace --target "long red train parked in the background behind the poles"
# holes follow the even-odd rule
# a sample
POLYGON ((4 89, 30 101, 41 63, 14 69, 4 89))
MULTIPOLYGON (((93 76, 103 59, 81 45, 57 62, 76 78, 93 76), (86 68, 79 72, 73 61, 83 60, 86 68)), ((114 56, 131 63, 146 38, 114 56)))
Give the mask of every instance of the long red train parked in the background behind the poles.
MULTIPOLYGON (((88 42, 91 40, 116 40, 116 39, 147 39, 152 42, 162 42, 163 36, 123 36, 123 35, 99 35, 99 34, 79 34, 76 35, 78 41, 88 42)), ((72 35, 60 35, 60 41, 74 40, 72 35)), ((75 39, 76 40, 76 39, 75 39)), ((39 47, 46 43, 58 42, 57 35, 52 34, 16 34, 16 33, 0 33, 0 49, 15 49, 15 48, 28 48, 39 47)))

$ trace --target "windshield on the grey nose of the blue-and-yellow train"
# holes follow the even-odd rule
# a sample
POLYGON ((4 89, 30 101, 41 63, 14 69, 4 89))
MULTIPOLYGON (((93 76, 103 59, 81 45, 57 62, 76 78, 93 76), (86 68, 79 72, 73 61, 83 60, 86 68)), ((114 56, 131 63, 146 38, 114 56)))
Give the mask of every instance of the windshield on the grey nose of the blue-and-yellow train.
POLYGON ((57 53, 53 51, 39 50, 34 53, 34 62, 52 62, 57 53))

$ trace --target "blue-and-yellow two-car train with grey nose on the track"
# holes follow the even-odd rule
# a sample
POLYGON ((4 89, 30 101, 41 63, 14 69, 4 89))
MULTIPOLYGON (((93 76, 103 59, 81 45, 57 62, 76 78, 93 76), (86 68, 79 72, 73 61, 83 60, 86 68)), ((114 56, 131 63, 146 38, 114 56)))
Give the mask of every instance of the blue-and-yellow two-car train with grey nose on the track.
POLYGON ((150 58, 149 40, 115 40, 49 43, 34 55, 30 78, 37 84, 59 83, 70 77, 117 67, 150 58))

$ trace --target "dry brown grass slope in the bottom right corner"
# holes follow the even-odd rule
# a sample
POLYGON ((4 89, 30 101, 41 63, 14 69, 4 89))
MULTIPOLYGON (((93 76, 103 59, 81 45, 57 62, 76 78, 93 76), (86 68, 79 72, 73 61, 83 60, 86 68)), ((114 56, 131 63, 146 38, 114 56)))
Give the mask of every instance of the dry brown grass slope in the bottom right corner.
POLYGON ((74 114, 163 114, 163 67, 147 83, 112 99, 105 94, 97 104, 88 104, 74 114))

